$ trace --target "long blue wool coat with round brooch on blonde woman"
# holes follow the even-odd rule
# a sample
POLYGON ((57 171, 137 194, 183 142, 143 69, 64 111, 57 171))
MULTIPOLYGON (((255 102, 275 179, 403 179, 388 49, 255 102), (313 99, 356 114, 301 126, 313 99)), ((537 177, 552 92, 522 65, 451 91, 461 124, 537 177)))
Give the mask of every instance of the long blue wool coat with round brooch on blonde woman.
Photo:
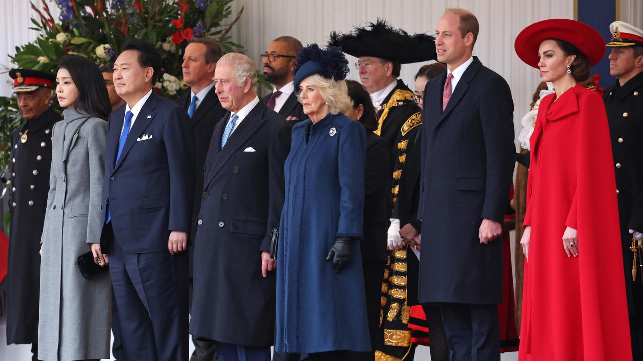
POLYGON ((276 351, 370 351, 359 242, 340 273, 325 261, 336 237, 362 236, 365 161, 365 129, 342 114, 293 128, 278 248, 276 351))

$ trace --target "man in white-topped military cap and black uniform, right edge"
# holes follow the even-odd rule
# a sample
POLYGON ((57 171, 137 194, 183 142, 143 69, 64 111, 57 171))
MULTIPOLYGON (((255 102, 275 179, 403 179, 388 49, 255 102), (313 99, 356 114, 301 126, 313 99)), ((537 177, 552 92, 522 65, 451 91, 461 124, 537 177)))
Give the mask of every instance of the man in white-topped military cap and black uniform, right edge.
POLYGON ((610 31, 610 75, 617 81, 603 100, 614 154, 632 353, 634 360, 643 360, 643 30, 615 21, 610 31))

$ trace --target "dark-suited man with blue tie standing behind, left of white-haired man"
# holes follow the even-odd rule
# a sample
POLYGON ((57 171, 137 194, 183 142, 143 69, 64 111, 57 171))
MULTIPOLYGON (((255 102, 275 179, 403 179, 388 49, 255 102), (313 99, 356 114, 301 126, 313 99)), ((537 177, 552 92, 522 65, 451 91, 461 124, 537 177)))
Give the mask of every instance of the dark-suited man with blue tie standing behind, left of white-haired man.
MULTIPOLYGON (((226 110, 221 107, 214 91, 214 69, 221 58, 221 45, 210 38, 192 38, 183 55, 183 80, 190 85, 176 102, 183 107, 192 120, 194 127, 196 182, 194 186, 194 205, 192 206, 192 226, 201 207, 201 189, 203 189, 203 166, 205 165, 210 139, 214 126, 226 110)), ((190 233, 190 245, 194 245, 194 232, 190 233)), ((190 304, 194 285, 194 247, 189 247, 190 258, 190 304)), ((216 359, 214 342, 192 339, 194 353, 191 361, 212 361, 216 359)))

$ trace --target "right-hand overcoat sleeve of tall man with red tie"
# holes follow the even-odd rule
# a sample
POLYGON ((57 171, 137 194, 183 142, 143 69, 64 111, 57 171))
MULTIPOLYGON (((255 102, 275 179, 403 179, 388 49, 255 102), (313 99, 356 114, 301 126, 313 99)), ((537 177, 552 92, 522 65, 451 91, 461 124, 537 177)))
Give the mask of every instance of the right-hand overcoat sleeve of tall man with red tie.
POLYGON ((487 180, 480 216, 497 222, 505 218, 516 159, 513 112, 509 85, 500 76, 491 77, 480 99, 480 123, 487 152, 487 180))

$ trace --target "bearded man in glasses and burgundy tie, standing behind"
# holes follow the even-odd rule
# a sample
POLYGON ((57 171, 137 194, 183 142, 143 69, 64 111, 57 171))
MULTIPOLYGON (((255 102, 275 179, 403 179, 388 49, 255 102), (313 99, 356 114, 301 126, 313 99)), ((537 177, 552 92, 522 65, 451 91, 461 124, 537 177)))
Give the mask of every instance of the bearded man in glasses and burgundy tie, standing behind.
POLYGON ((264 65, 264 78, 273 84, 273 92, 261 100, 269 109, 278 112, 287 121, 294 123, 308 119, 303 114, 303 106, 297 100, 293 85, 293 67, 297 55, 302 50, 302 42, 294 37, 278 37, 270 43, 266 53, 261 55, 264 65))

